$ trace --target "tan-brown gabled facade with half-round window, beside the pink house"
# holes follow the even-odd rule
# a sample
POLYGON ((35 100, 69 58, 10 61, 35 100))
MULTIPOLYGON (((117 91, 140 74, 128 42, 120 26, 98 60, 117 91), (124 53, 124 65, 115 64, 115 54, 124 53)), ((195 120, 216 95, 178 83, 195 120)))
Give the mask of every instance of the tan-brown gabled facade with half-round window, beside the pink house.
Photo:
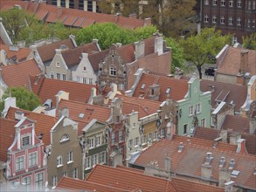
POLYGON ((62 176, 83 179, 78 123, 62 116, 51 129, 51 144, 45 147, 45 151, 50 187, 55 187, 62 176))

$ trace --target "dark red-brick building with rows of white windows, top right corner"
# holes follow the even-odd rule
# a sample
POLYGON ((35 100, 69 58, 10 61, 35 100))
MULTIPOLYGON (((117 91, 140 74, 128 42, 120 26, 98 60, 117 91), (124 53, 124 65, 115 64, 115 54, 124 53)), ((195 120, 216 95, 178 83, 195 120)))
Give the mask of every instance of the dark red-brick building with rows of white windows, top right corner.
POLYGON ((233 34, 233 43, 256 32, 256 0, 201 0, 201 26, 233 34))

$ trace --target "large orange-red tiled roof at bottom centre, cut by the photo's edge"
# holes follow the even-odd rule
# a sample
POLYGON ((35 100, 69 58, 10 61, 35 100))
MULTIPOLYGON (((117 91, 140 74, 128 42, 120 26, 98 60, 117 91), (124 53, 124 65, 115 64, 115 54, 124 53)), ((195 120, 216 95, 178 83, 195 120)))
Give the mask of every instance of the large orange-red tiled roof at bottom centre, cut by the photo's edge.
POLYGON ((165 179, 143 175, 123 168, 96 165, 86 178, 88 182, 111 185, 118 189, 140 189, 141 191, 178 191, 165 179))

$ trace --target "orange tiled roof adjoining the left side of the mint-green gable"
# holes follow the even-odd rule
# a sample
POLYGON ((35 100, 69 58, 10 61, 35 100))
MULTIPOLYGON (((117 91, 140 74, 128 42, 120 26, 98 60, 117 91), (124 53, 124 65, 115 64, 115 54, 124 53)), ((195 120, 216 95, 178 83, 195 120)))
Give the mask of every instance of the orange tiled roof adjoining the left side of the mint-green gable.
POLYGON ((159 101, 164 101, 165 99, 173 99, 176 101, 184 99, 185 94, 188 92, 187 80, 143 73, 133 96, 140 97, 146 94, 145 99, 149 99, 149 86, 153 86, 154 84, 160 85, 159 101), (145 85, 144 88, 142 88, 143 84, 145 85), (169 87, 171 88, 170 97, 167 98, 166 90, 169 87))

